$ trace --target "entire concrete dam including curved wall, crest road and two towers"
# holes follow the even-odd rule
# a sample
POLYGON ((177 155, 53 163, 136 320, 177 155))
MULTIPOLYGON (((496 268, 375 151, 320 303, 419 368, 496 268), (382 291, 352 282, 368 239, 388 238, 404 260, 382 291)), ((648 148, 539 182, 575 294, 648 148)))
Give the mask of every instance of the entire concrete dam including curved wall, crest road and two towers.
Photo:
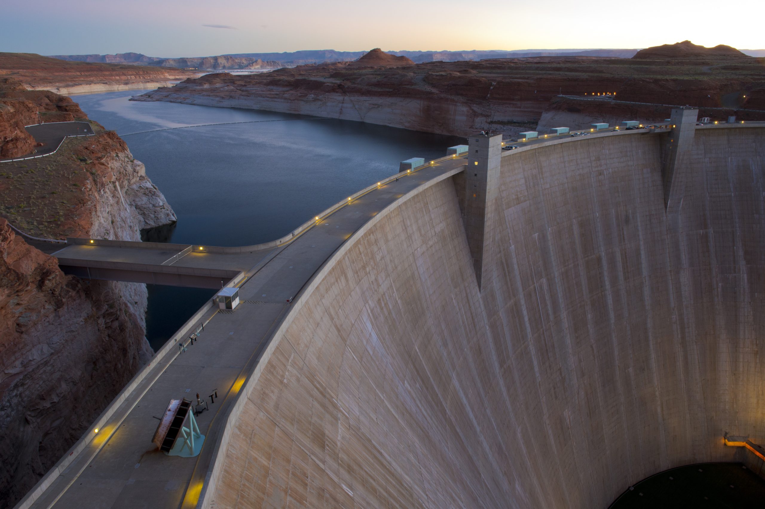
POLYGON ((765 442, 765 124, 672 124, 474 136, 247 251, 244 303, 200 310, 18 507, 590 509, 740 460, 725 433, 765 442), (153 450, 202 382, 200 455, 153 450))

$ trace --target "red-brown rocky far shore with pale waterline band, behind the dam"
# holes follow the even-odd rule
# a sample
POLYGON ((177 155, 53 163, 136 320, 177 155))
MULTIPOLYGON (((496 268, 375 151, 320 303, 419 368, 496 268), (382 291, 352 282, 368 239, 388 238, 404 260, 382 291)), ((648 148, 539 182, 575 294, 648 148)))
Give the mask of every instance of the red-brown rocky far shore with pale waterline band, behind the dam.
MULTIPOLYGON (((592 122, 614 124, 633 115, 643 122, 669 116, 670 106, 638 103, 765 110, 762 97, 750 92, 761 86, 758 59, 734 48, 703 48, 685 41, 630 59, 532 57, 415 64, 372 50, 354 62, 251 76, 208 74, 132 100, 316 115, 443 135, 489 129, 513 137, 522 131, 546 131, 555 122, 575 129, 589 128, 592 122), (677 57, 667 57, 668 51, 677 57), (562 101, 567 95, 589 99, 594 92, 634 104, 562 101)), ((710 111, 702 116, 724 118, 727 113, 710 111)))

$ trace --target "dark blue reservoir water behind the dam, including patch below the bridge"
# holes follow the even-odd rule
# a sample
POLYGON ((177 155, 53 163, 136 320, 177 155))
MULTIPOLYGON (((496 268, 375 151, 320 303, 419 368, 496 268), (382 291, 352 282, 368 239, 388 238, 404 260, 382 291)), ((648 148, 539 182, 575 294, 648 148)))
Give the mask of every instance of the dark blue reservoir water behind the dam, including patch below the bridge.
MULTIPOLYGON (((142 91, 73 96, 122 136, 178 216, 148 240, 251 245, 281 237, 345 196, 432 159, 464 138, 248 109, 135 102, 142 91), (245 123, 231 123, 245 122, 245 123), (217 125, 208 125, 217 124, 217 125), (188 127, 198 126, 200 127, 188 127)), ((148 285, 146 336, 158 349, 210 290, 148 285)))

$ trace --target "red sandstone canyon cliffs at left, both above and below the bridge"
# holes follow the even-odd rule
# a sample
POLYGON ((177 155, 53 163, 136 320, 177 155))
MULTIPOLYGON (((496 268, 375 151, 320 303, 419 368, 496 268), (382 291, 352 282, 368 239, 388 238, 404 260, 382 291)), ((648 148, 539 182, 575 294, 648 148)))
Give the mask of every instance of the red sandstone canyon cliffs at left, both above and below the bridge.
MULTIPOLYGON (((69 98, 7 88, 0 133, 11 133, 11 148, 22 150, 18 126, 38 108, 86 118, 69 98)), ((91 125, 96 135, 68 138, 56 154, 0 164, 0 216, 45 238, 140 240, 140 229, 173 222, 125 142, 91 125)), ((0 219, 0 509, 34 486, 148 360, 146 302, 143 284, 65 276, 0 219)))

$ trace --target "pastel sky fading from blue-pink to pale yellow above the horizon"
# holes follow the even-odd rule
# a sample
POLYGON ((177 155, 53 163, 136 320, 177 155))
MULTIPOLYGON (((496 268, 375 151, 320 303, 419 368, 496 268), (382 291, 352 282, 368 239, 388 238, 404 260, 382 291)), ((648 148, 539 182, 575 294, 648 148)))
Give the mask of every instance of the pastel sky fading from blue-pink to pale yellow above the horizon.
POLYGON ((44 55, 765 47, 763 0, 5 0, 0 18, 0 51, 44 55))

